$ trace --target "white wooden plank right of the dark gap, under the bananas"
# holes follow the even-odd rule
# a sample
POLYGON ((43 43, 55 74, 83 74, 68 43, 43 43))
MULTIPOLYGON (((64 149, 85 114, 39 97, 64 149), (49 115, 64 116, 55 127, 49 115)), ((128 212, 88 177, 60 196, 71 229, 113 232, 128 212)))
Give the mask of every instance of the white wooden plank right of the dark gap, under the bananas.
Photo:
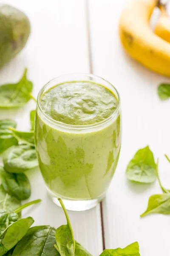
MULTIPOLYGON (((169 186, 170 166, 164 158, 170 145, 170 102, 157 95, 159 76, 128 57, 122 49, 118 23, 128 0, 91 0, 91 47, 94 74, 113 83, 122 101, 122 150, 116 174, 103 202, 105 247, 125 247, 138 241, 142 256, 169 256, 170 217, 150 215, 140 218, 150 195, 161 193, 158 182, 150 186, 129 183, 125 177, 127 163, 146 145, 160 157, 160 176, 169 186)), ((140 29, 140 28, 139 28, 140 29)))

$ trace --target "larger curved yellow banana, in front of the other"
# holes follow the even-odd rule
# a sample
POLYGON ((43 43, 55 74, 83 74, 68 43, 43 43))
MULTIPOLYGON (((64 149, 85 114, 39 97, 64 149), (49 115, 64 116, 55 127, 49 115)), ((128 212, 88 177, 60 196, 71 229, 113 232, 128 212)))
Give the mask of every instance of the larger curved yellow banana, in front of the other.
POLYGON ((170 76, 170 44, 149 27, 150 16, 158 0, 132 0, 123 11, 119 35, 129 55, 145 67, 170 76))

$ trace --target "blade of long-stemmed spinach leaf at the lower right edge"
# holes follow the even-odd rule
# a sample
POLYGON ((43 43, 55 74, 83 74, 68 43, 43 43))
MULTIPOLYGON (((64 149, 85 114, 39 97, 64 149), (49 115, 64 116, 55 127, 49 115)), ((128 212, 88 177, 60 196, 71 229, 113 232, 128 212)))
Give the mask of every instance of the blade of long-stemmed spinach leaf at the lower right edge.
POLYGON ((151 195, 146 211, 141 217, 150 213, 170 214, 170 193, 161 195, 151 195))

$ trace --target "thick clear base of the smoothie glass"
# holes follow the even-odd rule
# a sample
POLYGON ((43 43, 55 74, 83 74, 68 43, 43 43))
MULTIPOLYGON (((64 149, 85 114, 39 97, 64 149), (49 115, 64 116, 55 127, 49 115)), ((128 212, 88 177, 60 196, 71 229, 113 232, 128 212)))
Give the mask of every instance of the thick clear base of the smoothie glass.
POLYGON ((47 191, 48 191, 48 195, 50 196, 54 204, 57 204, 59 207, 61 207, 57 199, 57 198, 61 198, 67 210, 76 211, 76 212, 92 209, 96 207, 96 205, 99 204, 104 198, 104 196, 102 196, 101 198, 91 199, 91 200, 71 200, 71 199, 64 199, 61 196, 57 197, 57 195, 51 192, 48 188, 47 188, 47 191))

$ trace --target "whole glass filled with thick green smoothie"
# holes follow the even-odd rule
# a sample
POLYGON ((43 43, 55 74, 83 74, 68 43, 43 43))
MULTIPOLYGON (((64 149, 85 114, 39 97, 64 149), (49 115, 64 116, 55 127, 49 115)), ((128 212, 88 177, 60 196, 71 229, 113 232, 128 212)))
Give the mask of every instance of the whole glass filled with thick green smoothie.
POLYGON ((91 74, 57 77, 40 90, 35 145, 48 194, 66 209, 95 207, 111 183, 121 148, 120 96, 91 74))

